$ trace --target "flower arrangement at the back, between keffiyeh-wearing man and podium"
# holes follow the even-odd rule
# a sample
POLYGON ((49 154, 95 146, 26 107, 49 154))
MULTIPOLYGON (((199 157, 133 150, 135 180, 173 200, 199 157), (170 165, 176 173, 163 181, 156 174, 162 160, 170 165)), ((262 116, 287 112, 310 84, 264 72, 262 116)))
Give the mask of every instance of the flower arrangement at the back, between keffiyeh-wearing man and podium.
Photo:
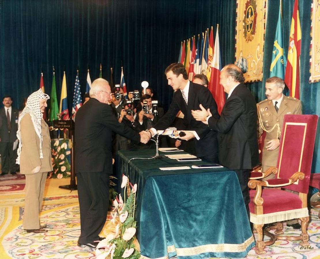
POLYGON ((67 178, 70 177, 71 167, 67 156, 70 155, 68 149, 68 139, 51 141, 51 162, 53 165, 53 172, 50 173, 49 178, 67 178))

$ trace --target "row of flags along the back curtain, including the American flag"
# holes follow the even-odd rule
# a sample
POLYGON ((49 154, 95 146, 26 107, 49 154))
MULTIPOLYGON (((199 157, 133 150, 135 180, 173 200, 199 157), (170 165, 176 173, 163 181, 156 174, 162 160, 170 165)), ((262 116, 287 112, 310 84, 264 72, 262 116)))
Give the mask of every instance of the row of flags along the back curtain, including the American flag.
MULTIPOLYGON (((100 75, 99 77, 102 78, 102 69, 100 64, 100 75)), ((113 79, 113 68, 110 68, 111 74, 110 74, 110 81, 109 85, 111 90, 113 90, 114 87, 114 79, 113 79)), ((121 67, 121 84, 120 86, 124 90, 124 98, 128 98, 127 95, 127 89, 124 81, 124 73, 123 73, 123 67, 121 67)), ((43 72, 41 72, 40 77, 40 88, 44 92, 44 80, 43 80, 43 72)), ((86 93, 89 93, 91 88, 91 78, 90 78, 90 71, 88 69, 87 73, 87 80, 86 80, 86 93)), ((53 68, 53 77, 52 77, 52 86, 51 86, 51 95, 50 95, 50 111, 49 111, 49 120, 53 121, 58 119, 57 114, 60 114, 61 119, 68 120, 70 119, 69 115, 69 109, 68 109, 68 95, 67 95, 67 80, 66 80, 66 72, 63 71, 63 77, 62 77, 62 86, 61 86, 61 95, 60 95, 60 105, 58 107, 58 98, 57 98, 57 88, 56 88, 56 78, 55 78, 55 71, 53 68)), ((82 106, 82 94, 81 94, 81 88, 80 88, 80 81, 79 81, 79 70, 77 70, 76 73, 76 81, 74 86, 74 92, 73 92, 73 102, 72 102, 72 113, 71 118, 74 120, 76 116, 77 110, 82 106)), ((43 114, 43 118, 46 120, 46 112, 43 114)))

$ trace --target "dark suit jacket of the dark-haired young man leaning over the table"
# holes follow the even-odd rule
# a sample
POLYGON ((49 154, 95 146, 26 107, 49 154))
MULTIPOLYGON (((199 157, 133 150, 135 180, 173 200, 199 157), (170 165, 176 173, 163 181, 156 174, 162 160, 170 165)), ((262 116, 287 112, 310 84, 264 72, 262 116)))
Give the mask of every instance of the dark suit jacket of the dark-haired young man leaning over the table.
POLYGON ((219 118, 217 104, 214 101, 211 92, 208 88, 190 82, 188 93, 188 107, 185 104, 181 91, 178 90, 173 94, 172 103, 168 112, 159 120, 154 126, 156 130, 164 130, 169 127, 179 110, 184 114, 182 130, 195 130, 200 140, 195 140, 196 155, 208 156, 218 153, 217 132, 211 130, 207 125, 201 121, 196 121, 192 115, 191 110, 199 110, 200 103, 205 109, 210 108, 212 115, 219 118))

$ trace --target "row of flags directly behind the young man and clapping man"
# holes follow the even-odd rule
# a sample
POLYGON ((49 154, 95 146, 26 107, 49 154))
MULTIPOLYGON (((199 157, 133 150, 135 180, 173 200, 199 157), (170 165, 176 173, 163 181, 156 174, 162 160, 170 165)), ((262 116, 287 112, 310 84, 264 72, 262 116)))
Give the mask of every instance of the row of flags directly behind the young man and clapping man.
POLYGON ((219 43, 219 24, 217 25, 215 41, 213 39, 213 27, 209 34, 209 28, 196 36, 181 42, 179 63, 183 64, 188 72, 189 80, 193 80, 195 74, 204 74, 208 78, 208 88, 215 99, 219 114, 226 102, 226 96, 220 85, 221 56, 219 43), (214 42, 214 43, 213 43, 214 42))

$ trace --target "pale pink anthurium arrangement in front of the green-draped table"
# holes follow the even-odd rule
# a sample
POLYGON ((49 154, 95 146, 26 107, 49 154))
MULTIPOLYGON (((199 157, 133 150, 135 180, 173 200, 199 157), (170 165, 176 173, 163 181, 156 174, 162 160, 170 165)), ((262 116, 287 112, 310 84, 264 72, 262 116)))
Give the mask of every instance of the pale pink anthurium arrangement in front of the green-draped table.
POLYGON ((116 225, 117 214, 120 222, 116 225, 116 233, 108 234, 97 245, 96 259, 140 258, 140 252, 134 244, 137 225, 134 220, 137 184, 132 185, 123 174, 121 188, 124 188, 124 200, 119 194, 113 201, 115 208, 111 213, 113 224, 116 225))

